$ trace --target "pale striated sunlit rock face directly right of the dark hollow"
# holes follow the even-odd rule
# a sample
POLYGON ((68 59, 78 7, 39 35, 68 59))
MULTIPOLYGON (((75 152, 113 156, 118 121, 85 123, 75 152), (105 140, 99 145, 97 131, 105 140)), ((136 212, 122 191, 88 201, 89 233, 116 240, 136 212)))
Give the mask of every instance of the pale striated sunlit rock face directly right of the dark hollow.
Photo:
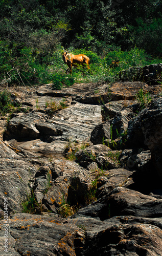
POLYGON ((96 124, 102 122, 101 108, 97 105, 77 103, 57 113, 52 118, 58 129, 63 131, 62 137, 68 140, 84 140, 96 124))

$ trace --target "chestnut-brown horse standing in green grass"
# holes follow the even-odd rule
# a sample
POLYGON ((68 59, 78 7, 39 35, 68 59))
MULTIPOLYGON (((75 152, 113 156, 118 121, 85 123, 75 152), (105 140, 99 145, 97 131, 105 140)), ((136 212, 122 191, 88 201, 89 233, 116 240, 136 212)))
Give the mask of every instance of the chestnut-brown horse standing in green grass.
POLYGON ((67 52, 62 52, 62 59, 65 64, 67 64, 68 68, 70 69, 70 73, 72 73, 72 66, 77 67, 78 64, 87 65, 87 68, 89 68, 89 58, 84 54, 70 54, 67 52))

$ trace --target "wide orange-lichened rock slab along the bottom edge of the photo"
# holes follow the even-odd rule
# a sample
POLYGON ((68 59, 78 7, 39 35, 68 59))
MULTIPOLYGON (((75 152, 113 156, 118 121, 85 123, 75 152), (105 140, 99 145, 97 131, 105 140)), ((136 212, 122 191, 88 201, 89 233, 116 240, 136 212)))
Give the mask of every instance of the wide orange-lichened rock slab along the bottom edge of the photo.
POLYGON ((161 218, 132 216, 100 221, 86 217, 15 214, 8 220, 8 250, 4 251, 6 225, 0 222, 2 256, 160 255, 161 218))

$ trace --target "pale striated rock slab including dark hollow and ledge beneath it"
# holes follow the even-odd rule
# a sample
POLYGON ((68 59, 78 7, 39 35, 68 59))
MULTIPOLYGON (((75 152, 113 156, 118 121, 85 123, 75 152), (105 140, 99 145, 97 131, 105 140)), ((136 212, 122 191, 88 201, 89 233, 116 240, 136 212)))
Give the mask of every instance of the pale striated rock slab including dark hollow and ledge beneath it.
POLYGON ((61 153, 67 142, 83 141, 102 122, 97 105, 76 103, 60 110, 50 119, 40 112, 20 113, 8 123, 4 138, 8 143, 33 152, 61 153), (13 140, 15 139, 15 140, 13 140))

